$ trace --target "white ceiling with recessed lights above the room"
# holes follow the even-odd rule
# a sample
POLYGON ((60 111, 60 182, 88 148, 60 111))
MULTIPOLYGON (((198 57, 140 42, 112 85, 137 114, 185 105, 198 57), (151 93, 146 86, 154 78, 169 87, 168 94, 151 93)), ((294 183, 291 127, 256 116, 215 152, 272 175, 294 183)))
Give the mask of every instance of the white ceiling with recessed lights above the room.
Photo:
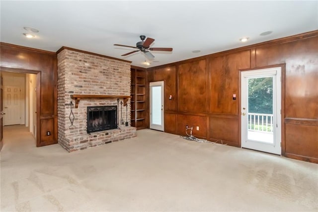
POLYGON ((0 1, 0 41, 56 52, 62 46, 154 67, 318 29, 312 1, 0 1), (39 30, 27 39, 24 26, 39 30), (260 36, 265 31, 273 33, 260 36), (156 39, 150 66, 135 49, 139 36, 156 39), (250 39, 241 43, 239 38, 250 39), (201 50, 200 53, 192 53, 201 50))

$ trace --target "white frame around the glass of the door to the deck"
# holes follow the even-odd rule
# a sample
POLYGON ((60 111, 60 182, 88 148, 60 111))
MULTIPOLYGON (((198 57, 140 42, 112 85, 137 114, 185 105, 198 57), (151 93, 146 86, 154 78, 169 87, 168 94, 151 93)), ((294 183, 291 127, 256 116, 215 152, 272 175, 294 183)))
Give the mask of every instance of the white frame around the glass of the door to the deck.
POLYGON ((241 72, 241 147, 269 152, 281 155, 281 67, 258 69, 241 72), (248 100, 247 100, 247 79, 273 77, 273 133, 274 142, 263 143, 247 139, 247 122, 248 118, 243 113, 247 114, 248 100), (245 108, 245 109, 243 109, 245 108))

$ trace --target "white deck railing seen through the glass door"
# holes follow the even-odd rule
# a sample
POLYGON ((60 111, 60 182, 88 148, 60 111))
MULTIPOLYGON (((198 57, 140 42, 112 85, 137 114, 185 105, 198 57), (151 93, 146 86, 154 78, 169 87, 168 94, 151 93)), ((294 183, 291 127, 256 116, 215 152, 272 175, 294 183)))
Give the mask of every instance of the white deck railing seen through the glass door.
POLYGON ((273 114, 247 113, 248 130, 273 132, 273 114))

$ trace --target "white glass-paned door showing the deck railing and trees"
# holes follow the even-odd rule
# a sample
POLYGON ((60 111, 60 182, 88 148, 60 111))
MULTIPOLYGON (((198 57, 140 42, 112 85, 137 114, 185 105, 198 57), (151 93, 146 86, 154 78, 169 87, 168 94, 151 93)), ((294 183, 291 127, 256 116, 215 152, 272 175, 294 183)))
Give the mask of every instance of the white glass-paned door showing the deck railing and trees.
POLYGON ((281 155, 281 68, 241 72, 241 147, 281 155))

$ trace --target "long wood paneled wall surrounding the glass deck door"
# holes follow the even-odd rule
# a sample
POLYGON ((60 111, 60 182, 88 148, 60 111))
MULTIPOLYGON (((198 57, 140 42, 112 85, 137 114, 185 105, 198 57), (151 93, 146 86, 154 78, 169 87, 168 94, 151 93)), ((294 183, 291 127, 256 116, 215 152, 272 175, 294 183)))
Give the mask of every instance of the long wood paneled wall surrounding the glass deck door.
POLYGON ((165 82, 164 130, 189 125, 240 147, 240 71, 272 66, 285 67, 282 155, 318 163, 318 31, 148 69, 149 82, 165 82))

